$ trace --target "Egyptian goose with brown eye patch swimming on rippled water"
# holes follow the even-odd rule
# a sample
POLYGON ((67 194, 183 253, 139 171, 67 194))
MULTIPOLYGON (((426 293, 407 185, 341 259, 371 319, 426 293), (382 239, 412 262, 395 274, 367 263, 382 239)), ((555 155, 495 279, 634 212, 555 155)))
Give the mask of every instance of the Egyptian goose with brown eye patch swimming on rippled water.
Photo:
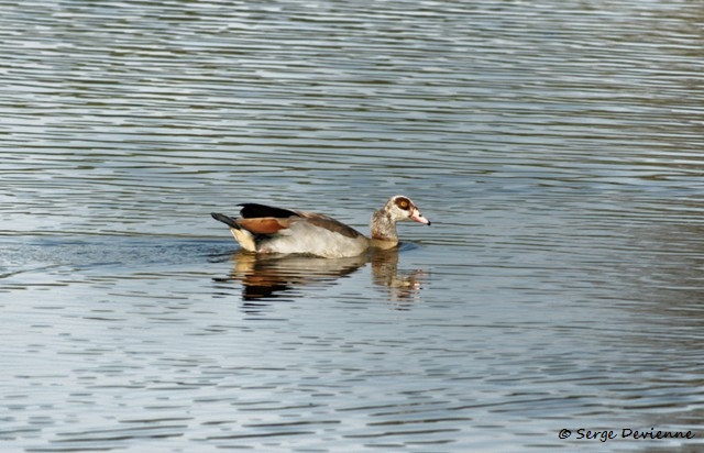
POLYGON ((328 216, 240 205, 238 219, 217 212, 212 218, 230 226, 240 246, 248 252, 307 254, 327 258, 356 256, 371 247, 393 248, 398 244, 396 222, 413 220, 429 225, 408 197, 397 195, 372 214, 372 237, 328 216))

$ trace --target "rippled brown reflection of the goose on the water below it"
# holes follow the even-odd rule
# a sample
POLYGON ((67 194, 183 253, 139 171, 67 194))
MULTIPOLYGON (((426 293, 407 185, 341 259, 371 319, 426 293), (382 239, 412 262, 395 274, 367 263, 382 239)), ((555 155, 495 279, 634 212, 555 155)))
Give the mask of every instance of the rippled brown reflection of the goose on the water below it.
POLYGON ((306 286, 332 286, 341 277, 371 264, 372 284, 381 289, 397 309, 417 300, 421 289, 422 270, 399 272, 398 250, 374 250, 346 258, 318 258, 301 255, 257 255, 238 251, 232 254, 229 278, 218 281, 242 284, 245 306, 279 297, 294 298, 306 286))

